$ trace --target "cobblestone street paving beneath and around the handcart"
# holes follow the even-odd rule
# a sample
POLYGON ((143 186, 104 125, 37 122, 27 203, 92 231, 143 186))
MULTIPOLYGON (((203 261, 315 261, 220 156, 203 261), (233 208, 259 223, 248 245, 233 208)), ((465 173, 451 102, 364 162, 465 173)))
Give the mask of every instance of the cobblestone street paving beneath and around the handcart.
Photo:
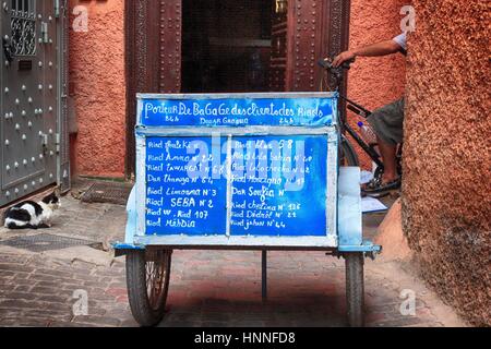
MULTIPOLYGON (((128 305, 124 258, 104 251, 123 237, 124 207, 85 204, 71 195, 62 205, 50 230, 0 230, 0 326, 136 326, 128 305), (43 252, 3 244, 39 233, 97 244, 43 252), (87 292, 86 316, 73 315, 76 290, 87 292)), ((270 298, 263 303, 260 252, 175 251, 160 325, 345 326, 344 273, 343 260, 322 252, 270 252, 270 298)), ((368 325, 464 325, 415 275, 409 264, 367 261, 368 325), (399 311, 405 289, 416 293, 416 316, 399 311)))

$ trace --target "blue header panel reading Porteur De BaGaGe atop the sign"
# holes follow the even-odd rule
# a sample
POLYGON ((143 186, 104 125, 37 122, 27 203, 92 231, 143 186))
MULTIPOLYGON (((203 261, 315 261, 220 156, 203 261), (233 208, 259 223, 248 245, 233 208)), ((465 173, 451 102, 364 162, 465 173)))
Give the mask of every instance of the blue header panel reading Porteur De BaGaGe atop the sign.
POLYGON ((331 125, 336 98, 143 99, 142 127, 331 125))

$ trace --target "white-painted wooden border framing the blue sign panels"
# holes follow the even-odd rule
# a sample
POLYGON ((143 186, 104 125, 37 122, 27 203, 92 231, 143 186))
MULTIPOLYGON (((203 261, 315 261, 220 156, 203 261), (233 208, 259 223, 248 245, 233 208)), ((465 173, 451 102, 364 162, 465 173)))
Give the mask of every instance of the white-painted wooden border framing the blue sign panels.
MULTIPOLYGON (((143 245, 180 245, 180 246, 316 246, 316 248, 337 248, 337 177, 338 177, 338 144, 339 135, 336 128, 337 116, 333 118, 332 125, 326 127, 291 127, 291 125, 255 125, 255 127, 141 127, 141 106, 144 99, 226 99, 226 98, 332 98, 334 110, 337 111, 337 93, 261 93, 261 94, 137 94, 137 125, 135 129, 136 139, 136 232, 134 243, 143 245), (326 227, 325 237, 302 236, 302 237, 265 237, 265 236, 149 236, 145 233, 146 219, 146 137, 148 136, 214 136, 217 133, 221 137, 231 137, 233 135, 325 135, 327 137, 327 157, 326 157, 326 227)), ((229 210, 227 208, 227 210, 229 210)), ((227 214, 227 219, 229 219, 227 214)), ((228 225, 227 225, 228 226, 228 225)), ((228 228, 227 228, 228 229, 228 228)))

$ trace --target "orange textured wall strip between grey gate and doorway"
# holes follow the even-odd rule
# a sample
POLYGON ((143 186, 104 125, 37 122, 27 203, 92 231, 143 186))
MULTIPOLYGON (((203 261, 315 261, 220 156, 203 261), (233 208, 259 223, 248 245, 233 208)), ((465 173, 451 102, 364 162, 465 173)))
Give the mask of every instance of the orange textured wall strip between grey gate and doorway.
MULTIPOLYGON (((71 0, 85 5, 88 32, 70 31, 70 80, 79 118, 72 141, 76 174, 124 174, 124 1, 71 0)), ((74 16, 72 15, 72 21, 74 16)))

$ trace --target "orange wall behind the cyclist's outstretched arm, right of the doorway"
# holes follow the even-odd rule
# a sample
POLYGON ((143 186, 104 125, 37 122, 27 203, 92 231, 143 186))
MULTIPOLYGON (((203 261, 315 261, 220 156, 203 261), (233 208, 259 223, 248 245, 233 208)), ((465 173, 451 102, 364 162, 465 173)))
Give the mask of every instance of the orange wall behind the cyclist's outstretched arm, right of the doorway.
MULTIPOLYGON (((400 34, 400 8, 409 0, 351 0, 350 48, 364 46, 400 34)), ((348 96, 368 109, 379 108, 404 94, 405 64, 403 55, 381 58, 358 58, 349 72, 348 96)), ((358 116, 348 115, 352 125, 358 116)), ((371 161, 360 153, 364 167, 371 161)))

